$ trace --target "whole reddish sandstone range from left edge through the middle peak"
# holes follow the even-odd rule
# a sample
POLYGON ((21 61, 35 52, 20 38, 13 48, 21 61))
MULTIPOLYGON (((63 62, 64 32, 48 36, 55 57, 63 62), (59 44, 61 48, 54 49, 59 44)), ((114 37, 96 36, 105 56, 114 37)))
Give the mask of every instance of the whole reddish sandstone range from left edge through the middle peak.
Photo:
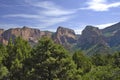
POLYGON ((43 36, 52 38, 56 43, 64 45, 66 48, 76 42, 74 30, 64 27, 58 27, 55 33, 50 31, 40 31, 39 29, 26 26, 23 28, 11 28, 5 31, 0 29, 0 42, 3 44, 7 44, 10 38, 14 40, 19 36, 24 40, 27 40, 31 45, 35 45, 43 36))

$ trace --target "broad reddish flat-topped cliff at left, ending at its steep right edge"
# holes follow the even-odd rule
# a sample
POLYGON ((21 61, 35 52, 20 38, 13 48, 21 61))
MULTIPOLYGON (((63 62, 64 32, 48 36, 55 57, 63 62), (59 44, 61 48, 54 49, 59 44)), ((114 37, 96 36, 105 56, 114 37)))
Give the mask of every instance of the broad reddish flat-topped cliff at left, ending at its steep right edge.
POLYGON ((40 38, 40 30, 31 29, 28 27, 14 28, 6 30, 2 36, 5 40, 9 40, 10 38, 15 39, 20 36, 27 41, 36 42, 36 40, 40 38))

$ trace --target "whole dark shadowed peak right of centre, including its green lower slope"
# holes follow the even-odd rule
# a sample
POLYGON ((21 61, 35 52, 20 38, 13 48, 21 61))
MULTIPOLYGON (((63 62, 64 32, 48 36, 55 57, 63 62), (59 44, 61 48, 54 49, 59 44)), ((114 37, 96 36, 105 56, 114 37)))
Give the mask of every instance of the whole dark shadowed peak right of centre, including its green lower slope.
POLYGON ((77 47, 88 55, 94 53, 109 53, 109 46, 104 40, 102 32, 97 27, 86 26, 77 41, 77 47))

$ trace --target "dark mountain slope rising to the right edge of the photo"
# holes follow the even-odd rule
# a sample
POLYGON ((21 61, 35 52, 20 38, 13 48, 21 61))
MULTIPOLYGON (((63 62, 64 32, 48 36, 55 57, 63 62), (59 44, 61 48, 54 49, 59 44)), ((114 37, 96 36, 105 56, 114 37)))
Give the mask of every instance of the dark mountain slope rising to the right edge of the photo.
POLYGON ((113 51, 120 50, 120 22, 101 30, 113 51))

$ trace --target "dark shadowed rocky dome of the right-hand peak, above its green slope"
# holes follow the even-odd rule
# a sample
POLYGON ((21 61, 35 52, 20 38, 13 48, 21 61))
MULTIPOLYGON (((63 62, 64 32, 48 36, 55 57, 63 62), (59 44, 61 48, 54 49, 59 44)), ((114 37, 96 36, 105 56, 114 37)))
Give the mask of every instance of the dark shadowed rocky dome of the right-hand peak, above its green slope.
POLYGON ((82 49, 88 49, 96 44, 106 44, 103 39, 102 32, 93 26, 86 26, 83 30, 81 37, 78 39, 78 45, 82 49))

